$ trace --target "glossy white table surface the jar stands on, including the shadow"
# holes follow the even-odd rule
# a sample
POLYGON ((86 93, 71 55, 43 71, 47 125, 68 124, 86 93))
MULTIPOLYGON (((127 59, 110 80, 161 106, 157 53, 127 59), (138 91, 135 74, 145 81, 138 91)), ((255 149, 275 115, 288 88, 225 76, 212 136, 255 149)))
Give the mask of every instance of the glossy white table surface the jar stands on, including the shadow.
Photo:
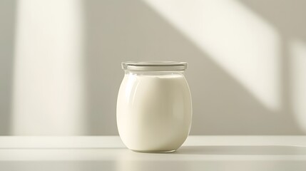
POLYGON ((0 136, 0 170, 306 170, 306 136, 189 136, 173 153, 139 153, 117 136, 0 136))

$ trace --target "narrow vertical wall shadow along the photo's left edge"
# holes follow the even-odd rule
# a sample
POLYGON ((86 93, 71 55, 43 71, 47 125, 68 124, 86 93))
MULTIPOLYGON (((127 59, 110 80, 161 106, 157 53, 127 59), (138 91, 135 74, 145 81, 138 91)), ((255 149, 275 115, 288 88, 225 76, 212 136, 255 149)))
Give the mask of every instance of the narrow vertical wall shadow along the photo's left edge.
POLYGON ((10 134, 16 1, 0 1, 0 135, 10 134))

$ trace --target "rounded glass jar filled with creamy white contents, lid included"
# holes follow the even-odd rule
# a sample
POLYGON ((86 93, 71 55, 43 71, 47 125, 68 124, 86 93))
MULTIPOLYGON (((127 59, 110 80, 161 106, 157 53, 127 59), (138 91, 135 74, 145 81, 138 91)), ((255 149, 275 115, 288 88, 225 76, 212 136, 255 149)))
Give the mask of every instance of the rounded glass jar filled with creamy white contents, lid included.
POLYGON ((138 152, 173 152, 188 137, 192 104, 185 62, 123 62, 117 99, 121 140, 138 152))

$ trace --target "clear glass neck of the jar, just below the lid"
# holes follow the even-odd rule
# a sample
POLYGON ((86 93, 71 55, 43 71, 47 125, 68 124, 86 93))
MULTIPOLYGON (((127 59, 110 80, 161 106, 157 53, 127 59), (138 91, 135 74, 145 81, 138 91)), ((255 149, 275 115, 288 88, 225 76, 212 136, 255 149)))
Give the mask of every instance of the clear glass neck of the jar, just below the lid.
POLYGON ((164 75, 184 75, 184 71, 132 71, 125 70, 125 74, 148 75, 148 76, 164 76, 164 75))

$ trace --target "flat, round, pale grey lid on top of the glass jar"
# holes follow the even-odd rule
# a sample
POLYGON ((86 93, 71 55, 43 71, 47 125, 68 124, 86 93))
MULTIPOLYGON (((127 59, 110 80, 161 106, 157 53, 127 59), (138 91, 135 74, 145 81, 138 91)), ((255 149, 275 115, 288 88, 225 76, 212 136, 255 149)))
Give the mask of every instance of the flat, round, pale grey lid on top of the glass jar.
POLYGON ((187 62, 175 61, 126 61, 122 63, 122 68, 124 70, 136 71, 184 71, 187 66, 187 62))

